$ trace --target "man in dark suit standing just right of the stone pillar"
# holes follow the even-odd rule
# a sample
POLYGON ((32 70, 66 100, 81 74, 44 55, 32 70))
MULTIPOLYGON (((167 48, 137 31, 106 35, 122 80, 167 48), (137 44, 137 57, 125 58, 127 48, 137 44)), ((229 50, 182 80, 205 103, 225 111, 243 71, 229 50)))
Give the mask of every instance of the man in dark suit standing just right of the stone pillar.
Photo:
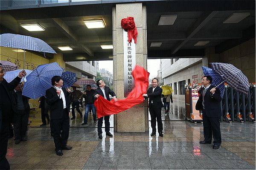
POLYGON ((163 89, 158 87, 158 79, 152 79, 152 87, 148 88, 147 94, 143 94, 143 97, 148 98, 148 108, 151 116, 151 136, 154 136, 157 132, 156 125, 158 127, 159 136, 163 137, 163 123, 162 123, 162 108, 163 103, 161 100, 163 89), (157 121, 156 121, 157 119, 157 121))

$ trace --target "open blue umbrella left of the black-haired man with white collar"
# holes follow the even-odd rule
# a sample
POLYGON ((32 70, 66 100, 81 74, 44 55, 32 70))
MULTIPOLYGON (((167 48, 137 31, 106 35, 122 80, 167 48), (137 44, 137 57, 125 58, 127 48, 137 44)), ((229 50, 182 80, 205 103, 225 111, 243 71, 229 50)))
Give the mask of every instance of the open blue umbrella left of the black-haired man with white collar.
POLYGON ((53 76, 61 76, 63 68, 57 62, 38 65, 25 80, 22 95, 37 99, 44 96, 45 91, 52 87, 51 79, 53 76))

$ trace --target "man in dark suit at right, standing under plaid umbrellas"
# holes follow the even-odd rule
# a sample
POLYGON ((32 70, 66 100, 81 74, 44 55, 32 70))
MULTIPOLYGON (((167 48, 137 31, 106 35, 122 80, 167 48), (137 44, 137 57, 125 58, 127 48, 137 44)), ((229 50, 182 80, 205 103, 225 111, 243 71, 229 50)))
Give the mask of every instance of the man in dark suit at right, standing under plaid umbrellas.
POLYGON ((221 145, 221 129, 219 118, 221 113, 221 93, 218 88, 215 88, 212 83, 211 76, 204 76, 202 80, 202 87, 199 90, 201 94, 198 102, 196 103, 196 110, 203 113, 203 126, 204 126, 204 141, 201 144, 212 143, 213 136, 213 149, 218 149, 221 145))

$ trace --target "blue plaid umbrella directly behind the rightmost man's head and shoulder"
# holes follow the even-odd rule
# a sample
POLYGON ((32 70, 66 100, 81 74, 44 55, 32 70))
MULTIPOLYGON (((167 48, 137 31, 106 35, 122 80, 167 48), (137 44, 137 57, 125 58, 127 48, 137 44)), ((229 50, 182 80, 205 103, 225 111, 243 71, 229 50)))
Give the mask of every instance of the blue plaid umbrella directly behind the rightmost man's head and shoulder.
POLYGON ((224 82, 222 82, 222 78, 219 74, 215 73, 212 68, 204 67, 202 66, 203 72, 205 76, 211 76, 212 77, 212 85, 217 86, 221 91, 221 97, 224 95, 224 82))

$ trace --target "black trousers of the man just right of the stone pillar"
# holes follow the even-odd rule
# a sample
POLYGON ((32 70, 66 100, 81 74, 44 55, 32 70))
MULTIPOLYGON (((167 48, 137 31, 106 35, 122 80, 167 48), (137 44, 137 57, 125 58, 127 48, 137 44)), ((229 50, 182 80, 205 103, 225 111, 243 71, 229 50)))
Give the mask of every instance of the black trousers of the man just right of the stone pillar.
POLYGON ((151 117, 152 132, 156 132, 157 130, 158 130, 158 133, 163 132, 161 111, 162 111, 162 108, 155 108, 152 103, 151 108, 149 109, 149 113, 150 113, 150 117, 151 117), (158 129, 156 128, 156 125, 157 125, 158 129))

